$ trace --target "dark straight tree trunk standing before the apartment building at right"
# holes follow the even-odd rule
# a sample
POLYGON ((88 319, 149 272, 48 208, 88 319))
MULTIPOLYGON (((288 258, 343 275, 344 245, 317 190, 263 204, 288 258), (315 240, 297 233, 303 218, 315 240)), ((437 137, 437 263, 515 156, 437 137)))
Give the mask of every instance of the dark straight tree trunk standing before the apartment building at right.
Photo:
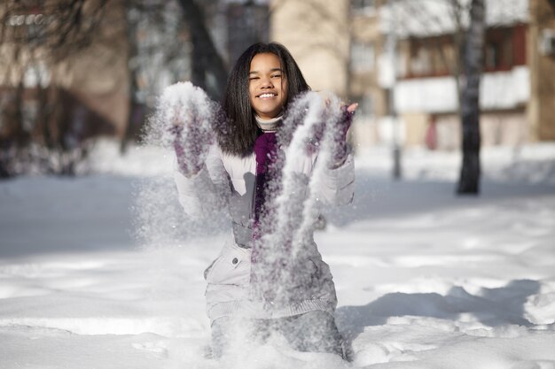
POLYGON ((480 192, 480 77, 485 35, 484 0, 473 0, 470 28, 465 40, 465 87, 461 101, 463 163, 458 194, 480 192))

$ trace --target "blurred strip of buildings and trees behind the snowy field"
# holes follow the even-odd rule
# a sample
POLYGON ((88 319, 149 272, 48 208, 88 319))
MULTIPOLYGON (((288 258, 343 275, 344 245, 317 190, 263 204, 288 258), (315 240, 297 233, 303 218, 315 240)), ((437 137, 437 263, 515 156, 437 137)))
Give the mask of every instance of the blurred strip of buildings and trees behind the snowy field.
POLYGON ((284 43, 313 89, 358 102, 356 150, 390 146, 396 177, 403 149, 553 142, 554 12, 553 0, 6 0, 0 178, 86 172, 99 137, 125 155, 163 88, 192 81, 219 99, 253 42, 284 43))

